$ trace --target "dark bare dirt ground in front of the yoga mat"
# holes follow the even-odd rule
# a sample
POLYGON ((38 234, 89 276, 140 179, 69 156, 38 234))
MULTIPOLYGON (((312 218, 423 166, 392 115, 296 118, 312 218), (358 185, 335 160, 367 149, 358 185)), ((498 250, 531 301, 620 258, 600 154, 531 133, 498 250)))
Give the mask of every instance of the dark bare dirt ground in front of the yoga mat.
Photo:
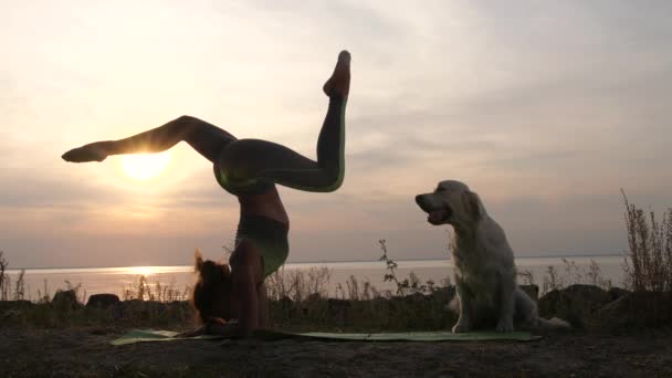
POLYGON ((185 340, 120 329, 0 329, 2 377, 672 377, 672 330, 529 343, 185 340))

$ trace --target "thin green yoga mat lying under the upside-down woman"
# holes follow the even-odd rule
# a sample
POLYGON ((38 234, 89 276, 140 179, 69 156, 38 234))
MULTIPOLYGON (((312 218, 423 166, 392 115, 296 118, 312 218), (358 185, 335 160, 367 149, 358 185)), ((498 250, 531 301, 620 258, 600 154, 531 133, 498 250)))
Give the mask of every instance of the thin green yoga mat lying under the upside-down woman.
MULTIPOLYGON (((175 340, 204 340, 221 339, 222 336, 203 335, 196 337, 172 337, 176 332, 156 329, 135 329, 126 335, 112 340, 112 345, 126 345, 146 342, 175 342, 175 340)), ((385 333, 385 334, 330 334, 330 333, 305 333, 294 334, 276 330, 258 330, 253 334, 254 338, 264 340, 277 339, 315 339, 315 340, 340 340, 340 342, 484 342, 484 340, 512 340, 532 342, 539 338, 528 332, 474 332, 466 334, 453 334, 451 332, 407 332, 407 333, 385 333)))

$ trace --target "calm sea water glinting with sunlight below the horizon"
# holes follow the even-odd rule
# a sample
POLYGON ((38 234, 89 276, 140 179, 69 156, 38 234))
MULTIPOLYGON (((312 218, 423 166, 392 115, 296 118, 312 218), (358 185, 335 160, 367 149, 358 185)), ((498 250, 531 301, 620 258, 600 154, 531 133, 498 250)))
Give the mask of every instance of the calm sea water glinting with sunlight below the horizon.
MULTIPOLYGON (((587 280, 586 273, 589 271, 591 261, 595 261, 600 270, 600 275, 605 280, 611 280, 613 285, 621 286, 623 282, 623 256, 566 256, 564 258, 573 265, 568 265, 563 258, 517 258, 516 265, 518 272, 529 271, 536 284, 542 284, 548 266, 554 266, 560 279, 571 281, 587 280)), ((451 277, 453 265, 450 260, 417 260, 398 261, 397 276, 408 277, 413 272, 424 282, 432 280, 437 284, 451 277)), ((285 273, 294 270, 309 271, 311 269, 327 267, 330 279, 327 284, 329 294, 336 293, 338 284, 346 286, 345 283, 350 275, 358 282, 370 282, 379 291, 392 290, 390 283, 384 282, 386 273, 385 263, 380 261, 371 262, 335 262, 335 263, 291 263, 285 265, 285 273)), ((175 288, 183 291, 193 282, 193 267, 187 266, 128 266, 128 267, 76 267, 76 269, 30 269, 25 270, 27 297, 35 300, 45 292, 53 295, 57 288, 66 286, 66 281, 72 285, 81 284, 86 296, 98 293, 113 293, 122 296, 124 290, 137 286, 140 276, 145 275, 150 285, 160 282, 161 285, 172 285, 175 288)), ((9 271, 13 283, 18 271, 9 271)), ((518 280, 522 282, 522 280, 518 280)))

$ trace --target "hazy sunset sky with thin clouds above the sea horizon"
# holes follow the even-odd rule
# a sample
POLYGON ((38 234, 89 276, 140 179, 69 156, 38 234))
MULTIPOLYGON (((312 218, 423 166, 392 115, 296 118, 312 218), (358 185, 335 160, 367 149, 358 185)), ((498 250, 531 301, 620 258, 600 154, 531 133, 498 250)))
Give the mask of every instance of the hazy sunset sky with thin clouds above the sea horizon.
POLYGON ((346 172, 281 188, 290 262, 447 258, 417 193, 477 192, 517 256, 623 253, 621 188, 672 206, 672 2, 0 0, 0 250, 10 267, 221 259, 238 202, 188 145, 153 179, 60 156, 180 115, 315 157, 353 56, 346 172))

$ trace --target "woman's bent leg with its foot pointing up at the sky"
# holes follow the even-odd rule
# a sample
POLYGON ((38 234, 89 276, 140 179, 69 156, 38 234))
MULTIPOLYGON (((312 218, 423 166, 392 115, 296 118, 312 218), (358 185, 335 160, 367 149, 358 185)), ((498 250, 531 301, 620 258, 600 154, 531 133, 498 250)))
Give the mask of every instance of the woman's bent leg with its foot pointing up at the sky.
POLYGON ((345 161, 345 108, 350 84, 350 55, 338 55, 336 69, 324 85, 329 107, 317 140, 317 161, 282 145, 241 139, 229 145, 217 169, 230 185, 270 180, 305 191, 334 191, 343 182, 345 161))

